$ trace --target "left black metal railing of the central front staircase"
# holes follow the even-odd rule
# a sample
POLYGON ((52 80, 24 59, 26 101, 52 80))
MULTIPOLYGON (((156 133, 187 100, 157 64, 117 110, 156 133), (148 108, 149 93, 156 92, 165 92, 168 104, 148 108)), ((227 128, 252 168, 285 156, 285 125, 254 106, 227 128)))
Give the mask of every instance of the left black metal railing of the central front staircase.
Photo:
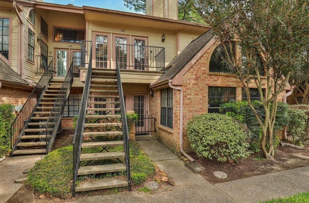
MULTIPOLYGON (((90 43, 91 41, 81 42, 81 63, 82 65, 87 64, 86 63, 86 49, 84 44, 90 43)), ((76 127, 74 132, 74 139, 73 139, 73 183, 72 183, 72 195, 75 196, 75 188, 76 188, 76 180, 77 180, 77 172, 80 166, 80 160, 79 156, 82 152, 82 142, 83 142, 83 133, 85 131, 84 125, 86 122, 86 114, 87 114, 87 105, 88 105, 88 97, 89 97, 89 90, 90 90, 90 84, 91 84, 91 75, 92 75, 92 48, 90 49, 90 56, 89 56, 89 62, 88 62, 88 69, 87 69, 87 75, 85 79, 85 85, 83 89, 83 95, 82 100, 80 103, 80 109, 78 112, 78 118, 76 121, 76 127)))

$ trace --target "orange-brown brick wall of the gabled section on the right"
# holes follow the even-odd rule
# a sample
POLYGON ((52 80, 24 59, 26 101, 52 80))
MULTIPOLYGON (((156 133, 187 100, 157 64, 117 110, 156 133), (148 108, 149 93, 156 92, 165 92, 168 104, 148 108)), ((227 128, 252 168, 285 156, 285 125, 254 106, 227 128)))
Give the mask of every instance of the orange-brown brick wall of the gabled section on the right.
MULTIPOLYGON (((187 123, 197 114, 208 113, 208 87, 235 87, 236 100, 242 99, 242 84, 235 75, 229 73, 210 73, 209 62, 212 52, 218 44, 212 45, 195 64, 184 74, 183 85, 183 148, 192 151, 187 137, 187 123)), ((254 82, 250 87, 256 88, 254 82)), ((266 86, 265 86, 266 87, 266 86)), ((166 88, 166 87, 164 87, 166 88)), ((277 98, 282 101, 286 92, 283 91, 277 98)), ((180 91, 173 89, 173 129, 160 125, 160 89, 154 90, 154 97, 150 97, 150 114, 157 119, 155 136, 164 145, 175 152, 179 152, 179 116, 180 91)))

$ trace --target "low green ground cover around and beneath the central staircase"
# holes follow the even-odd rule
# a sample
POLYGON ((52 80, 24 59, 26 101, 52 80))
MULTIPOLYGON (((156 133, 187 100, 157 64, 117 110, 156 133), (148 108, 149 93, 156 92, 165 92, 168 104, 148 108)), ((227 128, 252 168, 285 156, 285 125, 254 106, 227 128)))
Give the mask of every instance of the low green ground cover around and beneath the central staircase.
MULTIPOLYGON (((83 153, 95 153, 102 148, 86 148, 83 153)), ((122 146, 109 148, 108 151, 123 151, 122 146)), ((55 197, 67 199, 71 197, 71 185, 73 176, 73 147, 61 147, 50 152, 44 159, 36 162, 35 166, 28 174, 27 184, 38 193, 49 193, 55 197)), ((117 163, 116 160, 96 160, 91 165, 117 163)), ((81 166, 87 164, 82 161, 81 166)), ((130 168, 133 186, 138 186, 148 178, 155 175, 155 167, 151 160, 142 152, 141 147, 135 142, 130 141, 130 168)), ((95 174, 79 176, 77 183, 84 180, 96 180, 112 176, 124 176, 126 172, 113 172, 105 174, 95 174)), ((116 193, 117 190, 112 190, 116 193)))

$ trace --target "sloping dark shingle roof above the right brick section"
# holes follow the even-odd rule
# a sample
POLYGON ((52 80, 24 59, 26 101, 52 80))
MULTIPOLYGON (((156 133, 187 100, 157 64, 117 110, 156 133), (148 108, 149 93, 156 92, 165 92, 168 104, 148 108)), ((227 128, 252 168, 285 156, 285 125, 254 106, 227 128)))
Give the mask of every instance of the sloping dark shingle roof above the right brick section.
POLYGON ((194 39, 167 65, 165 73, 154 84, 172 79, 214 36, 212 29, 194 39))

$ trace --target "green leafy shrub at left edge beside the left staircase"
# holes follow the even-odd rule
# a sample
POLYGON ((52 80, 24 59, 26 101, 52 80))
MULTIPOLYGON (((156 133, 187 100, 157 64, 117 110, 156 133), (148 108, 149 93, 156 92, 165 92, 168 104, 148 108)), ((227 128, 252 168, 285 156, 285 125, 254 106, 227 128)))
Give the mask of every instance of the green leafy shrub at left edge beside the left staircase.
POLYGON ((15 118, 14 106, 11 104, 0 104, 0 157, 10 152, 11 124, 15 118))

